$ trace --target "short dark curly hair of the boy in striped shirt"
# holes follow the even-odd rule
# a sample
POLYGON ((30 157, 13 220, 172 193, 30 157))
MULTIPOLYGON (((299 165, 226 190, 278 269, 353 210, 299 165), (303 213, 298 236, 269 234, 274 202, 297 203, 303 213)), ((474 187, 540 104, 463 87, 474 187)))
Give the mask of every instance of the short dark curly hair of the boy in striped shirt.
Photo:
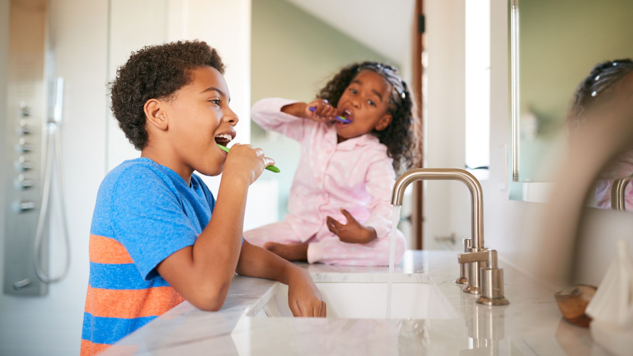
POLYGON ((112 113, 119 127, 137 150, 147 145, 143 106, 149 99, 170 99, 191 83, 191 70, 211 66, 224 74, 218 52, 206 42, 177 41, 145 46, 116 70, 108 83, 112 113))

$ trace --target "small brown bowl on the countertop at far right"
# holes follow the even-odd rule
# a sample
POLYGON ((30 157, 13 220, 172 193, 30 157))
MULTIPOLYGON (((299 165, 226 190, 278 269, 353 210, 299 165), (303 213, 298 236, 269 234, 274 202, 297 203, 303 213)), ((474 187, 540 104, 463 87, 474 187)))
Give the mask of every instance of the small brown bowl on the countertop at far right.
POLYGON ((576 326, 589 328, 591 317, 585 314, 585 310, 596 290, 598 288, 595 286, 573 285, 556 292, 554 297, 556 298, 556 303, 558 303, 558 309, 563 314, 563 318, 576 326))

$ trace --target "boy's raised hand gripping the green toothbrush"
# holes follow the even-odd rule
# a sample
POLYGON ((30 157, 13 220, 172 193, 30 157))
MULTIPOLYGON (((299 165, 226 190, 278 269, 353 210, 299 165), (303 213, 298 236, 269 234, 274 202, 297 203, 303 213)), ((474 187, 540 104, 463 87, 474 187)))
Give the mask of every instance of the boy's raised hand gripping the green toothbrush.
POLYGON ((234 144, 224 163, 223 177, 230 180, 245 180, 247 185, 253 184, 267 166, 275 161, 264 156, 262 149, 251 145, 234 144))

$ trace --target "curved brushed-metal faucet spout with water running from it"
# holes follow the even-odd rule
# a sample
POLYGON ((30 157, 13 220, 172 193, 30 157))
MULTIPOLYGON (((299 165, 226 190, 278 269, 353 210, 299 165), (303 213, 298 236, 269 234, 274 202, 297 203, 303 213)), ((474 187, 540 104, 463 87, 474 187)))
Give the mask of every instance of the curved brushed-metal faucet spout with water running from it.
POLYGON ((484 248, 484 194, 475 176, 460 168, 417 168, 406 171, 398 178, 391 194, 391 204, 401 206, 404 190, 417 180, 457 180, 464 183, 470 190, 470 222, 472 234, 472 249, 484 248))

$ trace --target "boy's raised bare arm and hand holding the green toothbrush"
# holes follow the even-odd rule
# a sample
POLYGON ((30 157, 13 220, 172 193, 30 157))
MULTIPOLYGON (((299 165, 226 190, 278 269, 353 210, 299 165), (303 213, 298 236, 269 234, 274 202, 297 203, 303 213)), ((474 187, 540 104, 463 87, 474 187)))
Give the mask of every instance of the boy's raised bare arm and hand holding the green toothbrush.
POLYGON ((220 309, 239 258, 248 187, 274 164, 260 149, 234 145, 225 162, 211 221, 194 245, 166 257, 156 267, 173 288, 199 309, 220 309))

